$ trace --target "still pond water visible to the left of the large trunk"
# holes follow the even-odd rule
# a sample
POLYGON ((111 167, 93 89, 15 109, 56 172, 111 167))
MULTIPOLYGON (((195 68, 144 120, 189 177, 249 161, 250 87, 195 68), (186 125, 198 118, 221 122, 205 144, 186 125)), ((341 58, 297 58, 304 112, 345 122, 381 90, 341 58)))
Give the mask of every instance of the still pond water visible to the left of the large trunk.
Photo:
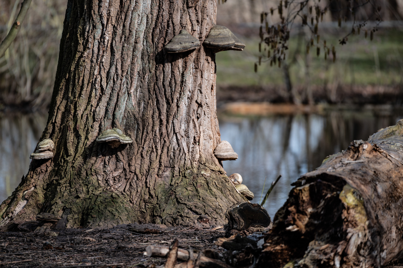
POLYGON ((29 155, 45 129, 47 115, 0 113, 0 202, 26 175, 29 155))

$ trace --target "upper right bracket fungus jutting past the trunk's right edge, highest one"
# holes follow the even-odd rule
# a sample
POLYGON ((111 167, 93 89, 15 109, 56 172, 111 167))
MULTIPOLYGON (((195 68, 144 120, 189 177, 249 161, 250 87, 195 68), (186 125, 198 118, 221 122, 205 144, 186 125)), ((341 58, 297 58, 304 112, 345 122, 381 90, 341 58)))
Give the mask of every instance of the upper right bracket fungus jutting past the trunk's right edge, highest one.
POLYGON ((210 33, 204 39, 203 44, 212 48, 215 53, 224 50, 241 51, 245 48, 245 44, 233 32, 221 25, 215 25, 210 29, 210 33))

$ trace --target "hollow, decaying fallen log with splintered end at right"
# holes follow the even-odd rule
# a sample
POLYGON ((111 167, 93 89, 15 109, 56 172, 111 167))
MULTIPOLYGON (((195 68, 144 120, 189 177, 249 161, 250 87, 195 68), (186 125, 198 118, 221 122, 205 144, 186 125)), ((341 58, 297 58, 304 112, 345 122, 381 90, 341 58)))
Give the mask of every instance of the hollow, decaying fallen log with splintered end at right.
POLYGON ((403 255, 403 120, 301 176, 260 267, 380 267, 403 255))

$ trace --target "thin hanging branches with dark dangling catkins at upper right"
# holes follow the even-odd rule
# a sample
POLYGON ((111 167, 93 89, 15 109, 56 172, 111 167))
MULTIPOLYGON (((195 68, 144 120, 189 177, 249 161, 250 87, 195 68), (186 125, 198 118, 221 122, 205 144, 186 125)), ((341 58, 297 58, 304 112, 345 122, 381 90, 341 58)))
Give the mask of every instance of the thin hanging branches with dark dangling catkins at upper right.
MULTIPOLYGON (((340 0, 333 0, 340 1, 340 0)), ((326 44, 326 40, 320 39, 319 24, 323 21, 323 16, 330 10, 330 3, 322 7, 319 5, 320 0, 312 1, 303 0, 281 0, 276 8, 270 8, 269 12, 262 12, 260 14, 260 28, 259 28, 259 52, 262 53, 258 58, 258 63, 255 64, 255 72, 258 71, 258 65, 261 62, 270 62, 270 66, 278 65, 281 67, 281 61, 286 59, 286 52, 289 48, 290 31, 295 25, 308 27, 311 33, 311 38, 306 45, 306 53, 309 54, 310 49, 316 46, 316 55, 320 56, 323 51, 324 59, 328 60, 330 52, 332 52, 331 60, 336 61, 336 48, 334 44, 326 44), (274 16, 275 12, 278 13, 280 21, 270 25, 268 16, 274 16), (316 40, 316 44, 315 41, 316 40), (266 52, 267 51, 267 52, 266 52)), ((376 5, 376 0, 348 0, 345 8, 339 10, 332 10, 339 14, 350 12, 353 18, 353 25, 351 30, 345 36, 339 39, 339 44, 344 45, 348 41, 351 34, 360 34, 361 29, 364 30, 364 37, 367 38, 368 32, 370 40, 374 38, 374 32, 378 31, 378 25, 382 22, 380 15, 380 6, 376 5), (368 19, 357 23, 356 14, 360 8, 365 6, 372 6, 374 12, 368 19), (368 21, 375 20, 376 25, 370 29, 367 28, 368 21)), ((345 16, 345 22, 347 17, 345 16)), ((338 26, 342 26, 341 15, 338 19, 338 26)))

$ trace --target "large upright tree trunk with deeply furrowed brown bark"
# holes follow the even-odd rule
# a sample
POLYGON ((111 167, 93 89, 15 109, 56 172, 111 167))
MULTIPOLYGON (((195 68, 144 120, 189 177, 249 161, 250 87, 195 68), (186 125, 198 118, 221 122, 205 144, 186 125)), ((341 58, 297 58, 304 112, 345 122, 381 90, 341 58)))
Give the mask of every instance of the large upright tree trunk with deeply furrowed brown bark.
POLYGON ((222 223, 244 201, 214 157, 215 54, 203 46, 167 54, 186 29, 202 42, 216 21, 216 0, 69 0, 52 103, 41 140, 52 160, 33 160, 0 207, 3 229, 39 212, 57 226, 129 222, 222 223), (118 127, 133 139, 97 143, 118 127))

